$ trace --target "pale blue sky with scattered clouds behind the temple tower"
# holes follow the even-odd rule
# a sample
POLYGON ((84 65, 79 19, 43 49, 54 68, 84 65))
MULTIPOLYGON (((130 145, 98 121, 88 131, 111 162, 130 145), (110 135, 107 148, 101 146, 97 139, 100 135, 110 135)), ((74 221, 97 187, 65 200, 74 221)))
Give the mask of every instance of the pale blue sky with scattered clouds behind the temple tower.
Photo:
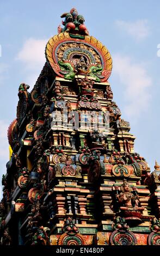
POLYGON ((137 137, 135 151, 152 170, 155 160, 160 162, 160 2, 1 0, 0 175, 6 172, 7 128, 16 118, 19 84, 34 86, 45 63, 45 44, 57 34, 60 15, 73 7, 84 16, 89 34, 112 55, 109 82, 122 118, 130 121, 131 133, 137 137))

